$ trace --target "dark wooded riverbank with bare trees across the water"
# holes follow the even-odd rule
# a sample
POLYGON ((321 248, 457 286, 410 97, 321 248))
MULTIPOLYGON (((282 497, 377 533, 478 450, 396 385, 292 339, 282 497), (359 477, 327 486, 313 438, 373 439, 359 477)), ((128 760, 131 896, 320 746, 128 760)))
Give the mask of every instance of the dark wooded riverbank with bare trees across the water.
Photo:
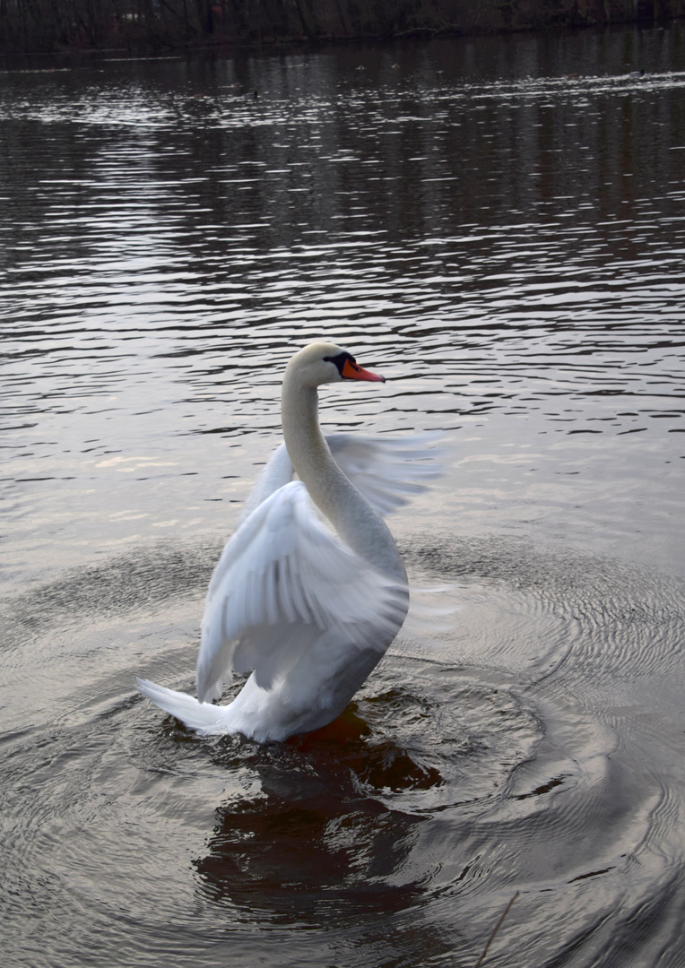
POLYGON ((389 40, 683 16, 685 0, 0 0, 0 54, 389 40))

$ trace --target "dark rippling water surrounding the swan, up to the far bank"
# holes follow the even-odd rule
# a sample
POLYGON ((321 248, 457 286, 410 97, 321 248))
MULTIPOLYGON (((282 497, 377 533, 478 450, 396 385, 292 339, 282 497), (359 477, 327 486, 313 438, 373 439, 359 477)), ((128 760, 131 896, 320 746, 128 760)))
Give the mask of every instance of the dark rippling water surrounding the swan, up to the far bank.
POLYGON ((519 892, 485 965, 685 964, 683 26, 13 61, 0 143, 5 963, 474 966, 519 892), (200 740, 134 677, 321 335, 389 378, 327 427, 446 433, 459 611, 200 740))

